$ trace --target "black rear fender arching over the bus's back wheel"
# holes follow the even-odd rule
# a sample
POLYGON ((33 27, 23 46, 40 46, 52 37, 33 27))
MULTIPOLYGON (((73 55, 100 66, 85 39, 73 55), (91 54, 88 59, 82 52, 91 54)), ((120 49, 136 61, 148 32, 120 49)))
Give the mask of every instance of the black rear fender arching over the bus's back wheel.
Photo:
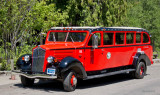
POLYGON ((134 56, 134 59, 133 59, 133 66, 135 68, 137 68, 137 64, 140 61, 144 61, 146 66, 150 66, 151 65, 151 61, 150 61, 149 57, 145 53, 140 53, 140 52, 136 53, 136 55, 134 56))

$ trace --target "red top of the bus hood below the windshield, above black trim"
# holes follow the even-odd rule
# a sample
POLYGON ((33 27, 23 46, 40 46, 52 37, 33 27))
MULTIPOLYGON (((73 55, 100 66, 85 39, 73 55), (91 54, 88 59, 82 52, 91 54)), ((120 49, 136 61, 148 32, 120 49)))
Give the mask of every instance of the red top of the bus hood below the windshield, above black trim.
POLYGON ((84 43, 78 42, 78 43, 51 43, 51 44, 45 44, 40 45, 41 48, 50 50, 50 49, 69 49, 69 48, 81 48, 84 47, 84 43))

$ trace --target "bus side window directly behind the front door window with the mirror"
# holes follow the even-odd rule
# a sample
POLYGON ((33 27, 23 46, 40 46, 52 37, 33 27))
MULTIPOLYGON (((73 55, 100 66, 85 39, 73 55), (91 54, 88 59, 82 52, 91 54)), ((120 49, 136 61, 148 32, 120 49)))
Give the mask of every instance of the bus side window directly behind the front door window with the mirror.
POLYGON ((113 33, 103 33, 103 44, 113 45, 113 33))

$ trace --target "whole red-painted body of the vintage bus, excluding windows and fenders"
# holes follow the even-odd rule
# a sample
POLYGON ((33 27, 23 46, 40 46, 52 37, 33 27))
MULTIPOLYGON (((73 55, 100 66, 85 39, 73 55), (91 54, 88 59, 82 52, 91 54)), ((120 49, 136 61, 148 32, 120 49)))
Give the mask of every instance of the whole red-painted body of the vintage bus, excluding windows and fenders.
MULTIPOLYGON (((144 53, 149 57, 152 62, 152 46, 150 45, 150 37, 148 43, 143 43, 143 37, 141 38, 141 43, 136 44, 135 36, 133 44, 126 44, 126 37, 124 38, 124 44, 116 45, 115 44, 115 33, 123 32, 126 33, 132 32, 136 35, 136 31, 105 31, 114 33, 113 45, 103 45, 103 32, 96 31, 101 33, 101 45, 93 49, 91 46, 88 46, 89 39, 91 37, 89 31, 69 31, 69 32, 87 32, 86 38, 83 42, 50 42, 48 41, 48 35, 50 32, 66 32, 62 30, 50 30, 47 34, 47 39, 45 45, 40 47, 46 50, 45 61, 43 71, 46 70, 47 58, 49 56, 54 56, 61 61, 67 56, 74 57, 78 59, 84 66, 86 71, 95 71, 103 70, 107 68, 114 68, 120 66, 132 65, 133 58, 137 53, 138 49, 144 51, 144 53), (107 58, 107 54, 110 53, 110 58, 107 58)), ((95 32, 93 32, 95 33, 95 32)), ((146 32, 140 32, 146 33, 146 32)), ((142 36, 142 34, 141 34, 142 36)))

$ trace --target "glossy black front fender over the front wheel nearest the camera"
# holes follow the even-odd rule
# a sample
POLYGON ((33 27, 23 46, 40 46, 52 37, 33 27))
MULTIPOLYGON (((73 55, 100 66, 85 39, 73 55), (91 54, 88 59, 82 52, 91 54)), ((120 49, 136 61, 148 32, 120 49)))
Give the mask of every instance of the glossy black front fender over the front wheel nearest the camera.
POLYGON ((73 69, 76 73, 79 73, 81 75, 81 78, 87 78, 87 73, 82 63, 73 57, 65 57, 64 59, 62 59, 58 67, 61 73, 73 69))

